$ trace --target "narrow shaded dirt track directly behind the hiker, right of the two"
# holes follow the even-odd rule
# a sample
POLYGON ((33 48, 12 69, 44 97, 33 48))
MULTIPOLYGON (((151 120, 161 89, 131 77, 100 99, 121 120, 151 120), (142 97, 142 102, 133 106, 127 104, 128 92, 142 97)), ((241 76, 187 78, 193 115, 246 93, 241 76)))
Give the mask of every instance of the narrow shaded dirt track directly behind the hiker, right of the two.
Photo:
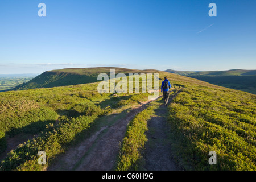
MULTIPOLYGON (((170 102, 181 92, 179 90, 169 100, 170 102)), ((172 148, 168 132, 170 127, 167 123, 167 107, 162 105, 156 110, 156 116, 148 121, 148 142, 145 145, 144 168, 149 171, 177 171, 182 170, 172 157, 172 148)))

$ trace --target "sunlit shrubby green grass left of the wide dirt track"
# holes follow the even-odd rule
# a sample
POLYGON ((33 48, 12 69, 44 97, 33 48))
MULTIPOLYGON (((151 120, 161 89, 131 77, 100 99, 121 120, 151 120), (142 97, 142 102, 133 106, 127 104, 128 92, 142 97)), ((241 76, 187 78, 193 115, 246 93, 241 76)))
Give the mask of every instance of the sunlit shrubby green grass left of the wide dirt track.
MULTIPOLYGON (((97 85, 92 83, 0 93, 1 150, 6 147, 7 136, 36 134, 34 139, 11 151, 1 162, 0 170, 42 170, 89 133, 99 117, 109 112, 118 113, 120 107, 137 104, 148 97, 148 94, 100 94, 97 85), (40 166, 37 162, 40 150, 46 152, 46 166, 40 166)), ((97 125, 102 123, 97 122, 97 125)))

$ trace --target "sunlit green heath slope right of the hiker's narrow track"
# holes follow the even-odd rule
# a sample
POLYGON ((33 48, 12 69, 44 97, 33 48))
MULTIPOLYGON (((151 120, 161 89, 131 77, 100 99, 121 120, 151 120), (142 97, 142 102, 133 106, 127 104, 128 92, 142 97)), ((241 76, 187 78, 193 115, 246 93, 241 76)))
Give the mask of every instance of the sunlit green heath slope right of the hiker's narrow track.
POLYGON ((256 96, 245 92, 191 86, 169 107, 177 154, 187 169, 256 169, 256 96), (217 165, 208 164, 209 151, 217 165))

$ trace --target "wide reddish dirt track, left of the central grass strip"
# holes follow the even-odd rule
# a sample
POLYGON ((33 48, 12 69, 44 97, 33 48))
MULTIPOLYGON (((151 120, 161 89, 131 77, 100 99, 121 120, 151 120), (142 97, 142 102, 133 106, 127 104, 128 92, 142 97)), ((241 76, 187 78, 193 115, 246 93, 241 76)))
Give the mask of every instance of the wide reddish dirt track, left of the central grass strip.
MULTIPOLYGON (((159 96, 162 97, 162 96, 159 96)), ((159 98, 158 97, 158 98, 159 98)), ((146 109, 147 102, 141 102, 123 118, 118 119, 111 126, 101 127, 96 133, 85 139, 75 147, 71 147, 61 155, 55 163, 47 168, 54 170, 77 170, 77 171, 109 171, 115 166, 119 152, 119 143, 125 136, 127 124, 136 114, 146 109)), ((108 119, 114 119, 116 115, 108 119)))

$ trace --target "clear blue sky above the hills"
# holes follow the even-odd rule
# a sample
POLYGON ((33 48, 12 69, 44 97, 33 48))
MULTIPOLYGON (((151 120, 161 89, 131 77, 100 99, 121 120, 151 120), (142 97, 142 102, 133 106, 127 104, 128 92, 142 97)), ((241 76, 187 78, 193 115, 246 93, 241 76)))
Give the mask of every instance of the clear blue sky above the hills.
POLYGON ((0 74, 256 69, 256 1, 1 0, 0 74), (38 16, 39 3, 46 17, 38 16), (217 17, 210 17, 209 3, 217 17))

